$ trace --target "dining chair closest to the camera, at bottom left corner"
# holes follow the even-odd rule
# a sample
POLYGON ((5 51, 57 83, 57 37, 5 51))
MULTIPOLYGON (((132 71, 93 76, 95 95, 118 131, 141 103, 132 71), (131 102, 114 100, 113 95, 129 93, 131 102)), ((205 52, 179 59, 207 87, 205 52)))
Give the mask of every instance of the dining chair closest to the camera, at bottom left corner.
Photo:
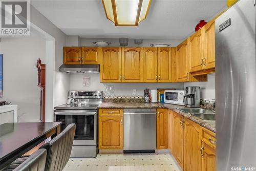
POLYGON ((35 151, 26 160, 20 163, 19 161, 13 162, 4 171, 45 171, 47 150, 42 148, 35 151))

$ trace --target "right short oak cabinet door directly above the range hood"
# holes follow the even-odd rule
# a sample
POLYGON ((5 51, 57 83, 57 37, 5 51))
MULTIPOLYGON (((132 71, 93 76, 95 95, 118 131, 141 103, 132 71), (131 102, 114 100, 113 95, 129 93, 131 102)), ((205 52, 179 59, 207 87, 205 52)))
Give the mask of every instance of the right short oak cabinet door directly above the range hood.
POLYGON ((99 47, 82 47, 82 64, 99 64, 99 47))

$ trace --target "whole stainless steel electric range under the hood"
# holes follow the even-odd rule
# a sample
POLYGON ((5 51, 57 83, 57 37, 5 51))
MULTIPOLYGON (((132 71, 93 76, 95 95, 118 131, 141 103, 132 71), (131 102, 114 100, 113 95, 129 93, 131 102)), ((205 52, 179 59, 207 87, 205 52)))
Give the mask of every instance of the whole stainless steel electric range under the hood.
POLYGON ((97 106, 103 101, 102 91, 70 91, 67 104, 54 108, 55 121, 61 121, 61 131, 76 124, 71 157, 96 157, 97 106))

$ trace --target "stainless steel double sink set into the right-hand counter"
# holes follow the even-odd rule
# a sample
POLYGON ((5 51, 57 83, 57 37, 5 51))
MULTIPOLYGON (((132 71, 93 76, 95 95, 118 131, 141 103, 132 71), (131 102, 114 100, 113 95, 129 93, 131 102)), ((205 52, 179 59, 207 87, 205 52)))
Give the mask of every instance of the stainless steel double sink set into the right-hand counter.
POLYGON ((196 116, 202 120, 215 120, 215 112, 201 108, 177 108, 178 110, 187 114, 196 116))

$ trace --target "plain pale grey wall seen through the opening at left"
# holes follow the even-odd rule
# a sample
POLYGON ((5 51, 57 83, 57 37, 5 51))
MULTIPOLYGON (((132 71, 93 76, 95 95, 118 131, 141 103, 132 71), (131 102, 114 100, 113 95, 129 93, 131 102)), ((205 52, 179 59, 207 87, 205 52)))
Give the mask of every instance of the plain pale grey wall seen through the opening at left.
POLYGON ((35 36, 1 38, 4 97, 18 105, 18 121, 40 121, 40 89, 37 87, 36 61, 45 63, 45 40, 35 36))

